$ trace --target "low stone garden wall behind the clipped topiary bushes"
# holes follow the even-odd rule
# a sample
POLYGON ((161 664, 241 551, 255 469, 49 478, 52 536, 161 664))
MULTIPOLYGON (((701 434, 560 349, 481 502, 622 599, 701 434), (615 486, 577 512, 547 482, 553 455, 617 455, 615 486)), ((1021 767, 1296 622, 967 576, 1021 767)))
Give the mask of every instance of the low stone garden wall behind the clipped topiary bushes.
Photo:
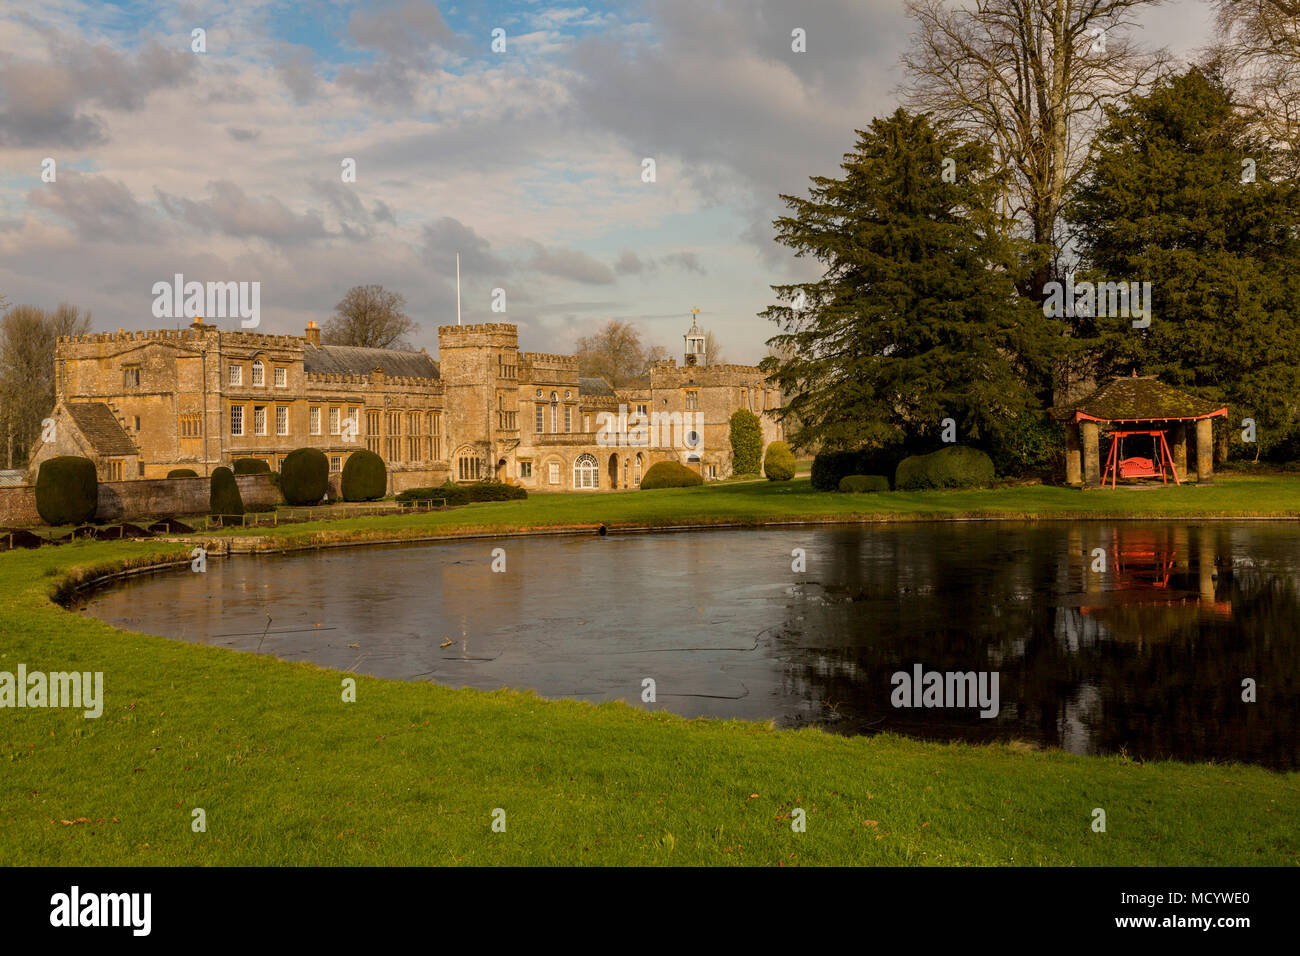
MULTIPOLYGON (((136 479, 100 481, 98 522, 135 520, 164 515, 205 515, 209 484, 195 479, 136 479)), ((238 475, 235 483, 248 511, 266 511, 281 502, 280 489, 266 475, 238 475)), ((36 512, 36 490, 31 485, 0 488, 0 525, 42 525, 36 512)))

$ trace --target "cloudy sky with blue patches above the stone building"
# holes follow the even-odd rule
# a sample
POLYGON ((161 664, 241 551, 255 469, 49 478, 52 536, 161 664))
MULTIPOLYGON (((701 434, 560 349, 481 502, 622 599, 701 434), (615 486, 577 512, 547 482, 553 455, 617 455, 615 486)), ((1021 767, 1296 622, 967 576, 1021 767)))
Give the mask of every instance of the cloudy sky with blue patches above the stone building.
MULTIPOLYGON (((1169 0, 1143 33, 1187 53, 1209 20, 1169 0)), ((768 286, 812 277, 777 195, 896 107, 909 33, 902 0, 8 3, 0 294, 143 329, 177 272, 259 281, 261 330, 300 334, 378 282, 434 351, 459 251, 464 321, 526 349, 618 317, 677 354, 698 307, 753 362, 768 286)))

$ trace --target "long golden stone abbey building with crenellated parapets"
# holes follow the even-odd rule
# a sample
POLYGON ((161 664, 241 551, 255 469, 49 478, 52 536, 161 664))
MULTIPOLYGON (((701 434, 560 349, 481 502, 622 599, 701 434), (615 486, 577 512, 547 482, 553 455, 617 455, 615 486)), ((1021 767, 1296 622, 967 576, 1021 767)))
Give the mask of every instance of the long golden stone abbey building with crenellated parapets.
POLYGON ((636 488, 666 459, 728 477, 732 412, 759 418, 766 447, 783 437, 771 414, 780 394, 753 365, 707 365, 694 324, 685 342, 682 365, 656 363, 615 390, 580 377, 573 355, 519 351, 517 328, 506 324, 439 326, 437 360, 321 345, 316 323, 302 337, 202 319, 182 330, 64 337, 53 428, 32 449, 29 480, 53 455, 90 458, 112 481, 208 475, 237 458, 278 470, 303 446, 324 451, 335 476, 356 449, 374 451, 390 492, 447 479, 636 488))

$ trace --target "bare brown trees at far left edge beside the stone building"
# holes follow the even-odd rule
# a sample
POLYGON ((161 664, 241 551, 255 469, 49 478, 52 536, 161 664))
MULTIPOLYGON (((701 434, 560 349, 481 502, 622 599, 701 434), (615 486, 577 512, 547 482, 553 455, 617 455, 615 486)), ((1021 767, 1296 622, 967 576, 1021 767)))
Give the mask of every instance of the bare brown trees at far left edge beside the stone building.
POLYGON ((55 407, 55 345, 90 332, 90 312, 60 303, 53 312, 14 306, 0 319, 0 433, 5 464, 26 460, 55 407), (12 455, 12 458, 10 458, 12 455))

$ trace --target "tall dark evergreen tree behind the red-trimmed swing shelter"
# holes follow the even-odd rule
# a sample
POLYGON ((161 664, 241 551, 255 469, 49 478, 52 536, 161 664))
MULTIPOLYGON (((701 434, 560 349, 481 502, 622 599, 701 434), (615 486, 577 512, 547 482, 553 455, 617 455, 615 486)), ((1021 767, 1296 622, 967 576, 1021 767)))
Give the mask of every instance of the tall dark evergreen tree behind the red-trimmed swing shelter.
POLYGON ((1225 402, 1268 444, 1300 401, 1300 194, 1249 130, 1214 73, 1173 77, 1109 112, 1066 215, 1082 281, 1150 282, 1149 328, 1076 321, 1097 373, 1225 402))

